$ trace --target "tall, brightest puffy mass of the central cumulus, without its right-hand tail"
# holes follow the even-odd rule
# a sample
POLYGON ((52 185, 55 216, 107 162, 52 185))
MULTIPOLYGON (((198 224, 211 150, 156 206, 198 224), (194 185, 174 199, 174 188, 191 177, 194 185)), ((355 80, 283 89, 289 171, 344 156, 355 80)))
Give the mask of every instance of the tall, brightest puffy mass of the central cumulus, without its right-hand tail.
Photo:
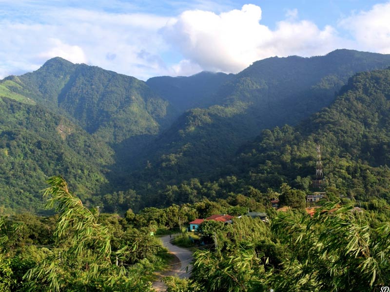
POLYGON ((219 15, 185 11, 171 19, 162 33, 184 57, 202 68, 237 72, 256 59, 254 49, 271 37, 271 31, 259 24, 261 13, 261 8, 252 4, 219 15))

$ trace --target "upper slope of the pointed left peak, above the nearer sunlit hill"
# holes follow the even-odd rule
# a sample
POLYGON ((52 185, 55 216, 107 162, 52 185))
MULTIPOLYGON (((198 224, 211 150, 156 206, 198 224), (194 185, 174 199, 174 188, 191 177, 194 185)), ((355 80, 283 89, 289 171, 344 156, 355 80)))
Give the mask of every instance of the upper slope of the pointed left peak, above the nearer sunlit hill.
MULTIPOLYGON (((48 60, 33 73, 6 78, 1 86, 66 114, 90 134, 97 133, 110 143, 156 134, 175 116, 169 103, 145 82, 59 57, 48 60), (7 84, 11 81, 17 86, 7 84)), ((12 94, 3 96, 12 98, 12 94)))

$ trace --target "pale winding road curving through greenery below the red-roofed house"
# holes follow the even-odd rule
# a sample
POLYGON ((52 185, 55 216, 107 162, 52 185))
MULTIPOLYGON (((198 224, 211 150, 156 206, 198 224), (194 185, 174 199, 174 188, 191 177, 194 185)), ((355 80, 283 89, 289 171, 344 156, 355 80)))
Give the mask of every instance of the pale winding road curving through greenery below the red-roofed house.
MULTIPOLYGON (((192 270, 192 265, 190 264, 193 260, 192 251, 173 245, 170 242, 171 239, 169 235, 161 237, 162 244, 168 249, 170 254, 177 257, 177 262, 171 266, 169 271, 163 273, 162 276, 189 278, 192 270)), ((153 283, 153 288, 156 291, 165 291, 167 289, 161 279, 153 283)))

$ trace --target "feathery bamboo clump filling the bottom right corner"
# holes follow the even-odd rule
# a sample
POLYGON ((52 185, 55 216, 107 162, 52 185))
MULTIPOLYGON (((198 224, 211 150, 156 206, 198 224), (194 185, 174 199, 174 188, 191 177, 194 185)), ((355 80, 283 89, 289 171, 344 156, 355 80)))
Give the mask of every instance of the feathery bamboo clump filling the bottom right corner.
POLYGON ((275 291, 373 291, 390 280, 389 224, 370 228, 352 210, 327 204, 313 218, 280 213, 273 220, 273 231, 292 251, 275 291))

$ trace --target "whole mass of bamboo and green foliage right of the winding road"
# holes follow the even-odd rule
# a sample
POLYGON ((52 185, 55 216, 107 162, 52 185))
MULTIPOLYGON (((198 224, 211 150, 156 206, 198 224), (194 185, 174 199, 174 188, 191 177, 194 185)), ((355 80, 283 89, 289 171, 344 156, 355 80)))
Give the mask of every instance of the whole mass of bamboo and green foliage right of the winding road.
MULTIPOLYGON (((351 205, 334 203, 313 217, 280 212, 271 226, 234 219, 219 229, 223 244, 195 252, 192 285, 200 291, 379 290, 389 281, 390 229, 389 222, 371 222, 351 205)), ((185 284, 173 287, 190 291, 185 284)))

